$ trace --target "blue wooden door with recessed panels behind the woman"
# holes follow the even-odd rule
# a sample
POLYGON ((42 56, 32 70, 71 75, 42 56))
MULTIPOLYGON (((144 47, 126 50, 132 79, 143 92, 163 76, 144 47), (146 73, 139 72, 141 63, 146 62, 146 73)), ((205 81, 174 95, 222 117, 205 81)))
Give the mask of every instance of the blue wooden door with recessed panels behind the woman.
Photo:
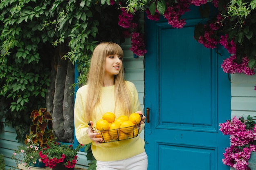
POLYGON ((229 138, 218 126, 231 113, 230 82, 220 68, 229 55, 194 40, 197 8, 184 17, 182 29, 145 17, 148 170, 229 170, 221 160, 229 138))

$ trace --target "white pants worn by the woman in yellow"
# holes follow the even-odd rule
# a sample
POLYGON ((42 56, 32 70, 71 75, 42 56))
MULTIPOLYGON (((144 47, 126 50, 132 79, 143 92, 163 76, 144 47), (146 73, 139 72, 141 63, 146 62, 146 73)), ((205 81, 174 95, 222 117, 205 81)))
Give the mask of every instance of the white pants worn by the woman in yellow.
POLYGON ((97 170, 147 170, 148 156, 143 152, 119 161, 97 161, 97 170))

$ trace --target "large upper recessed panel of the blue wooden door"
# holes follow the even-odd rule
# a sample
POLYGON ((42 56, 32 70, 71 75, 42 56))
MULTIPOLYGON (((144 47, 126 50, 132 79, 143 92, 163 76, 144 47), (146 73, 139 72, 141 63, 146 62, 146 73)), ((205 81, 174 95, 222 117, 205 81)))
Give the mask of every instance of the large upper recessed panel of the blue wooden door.
POLYGON ((158 29, 162 37, 159 45, 159 103, 162 113, 172 113, 162 114, 160 120, 173 126, 211 126, 214 121, 211 109, 216 104, 216 89, 212 88, 216 84, 216 71, 212 71, 216 57, 212 57, 211 50, 188 38, 194 31, 194 25, 189 21, 184 29, 173 29, 168 24, 158 25, 158 29), (166 71, 166 68, 170 69, 166 71), (198 116, 200 113, 204 116, 198 116))

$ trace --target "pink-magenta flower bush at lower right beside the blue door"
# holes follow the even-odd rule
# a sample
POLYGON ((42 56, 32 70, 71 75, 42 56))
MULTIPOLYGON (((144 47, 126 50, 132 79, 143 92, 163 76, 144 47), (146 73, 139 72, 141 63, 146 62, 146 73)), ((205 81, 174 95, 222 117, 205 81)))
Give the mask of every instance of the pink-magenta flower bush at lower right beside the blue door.
POLYGON ((248 160, 251 152, 256 151, 256 128, 247 128, 246 121, 234 116, 231 120, 219 124, 224 135, 230 135, 231 146, 225 149, 222 162, 236 170, 250 170, 248 160))

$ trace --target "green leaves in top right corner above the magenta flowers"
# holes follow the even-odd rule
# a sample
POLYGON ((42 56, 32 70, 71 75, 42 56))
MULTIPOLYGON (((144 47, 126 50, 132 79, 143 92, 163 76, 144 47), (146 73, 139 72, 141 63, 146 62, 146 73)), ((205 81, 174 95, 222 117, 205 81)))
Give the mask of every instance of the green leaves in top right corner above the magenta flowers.
POLYGON ((222 20, 222 33, 229 34, 229 40, 234 38, 237 62, 247 56, 250 68, 256 66, 255 3, 255 0, 231 0, 228 9, 221 9, 222 14, 228 16, 222 20))

